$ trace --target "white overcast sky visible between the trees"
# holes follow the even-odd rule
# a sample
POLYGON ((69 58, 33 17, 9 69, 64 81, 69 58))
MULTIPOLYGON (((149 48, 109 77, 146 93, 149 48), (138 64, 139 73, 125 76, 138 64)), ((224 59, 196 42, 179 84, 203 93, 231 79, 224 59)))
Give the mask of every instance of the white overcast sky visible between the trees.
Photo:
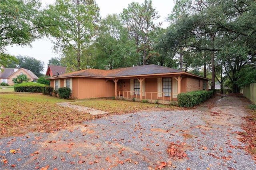
MULTIPOLYGON (((128 8, 128 4, 132 2, 138 2, 142 4, 144 0, 96 0, 98 7, 100 8, 100 16, 104 18, 108 14, 120 14, 124 8, 128 8)), ((53 4, 54 0, 42 0, 42 6, 47 4, 53 4)), ((174 0, 152 0, 152 6, 158 11, 160 18, 157 22, 162 22, 162 27, 166 28, 168 22, 165 22, 165 18, 168 14, 171 14, 174 6, 174 0)), ((10 55, 27 55, 34 57, 38 60, 44 61, 45 68, 43 74, 46 73, 48 60, 52 57, 59 57, 59 54, 53 52, 53 44, 47 38, 35 40, 31 43, 32 47, 29 46, 17 46, 12 45, 6 47, 7 52, 10 55)))

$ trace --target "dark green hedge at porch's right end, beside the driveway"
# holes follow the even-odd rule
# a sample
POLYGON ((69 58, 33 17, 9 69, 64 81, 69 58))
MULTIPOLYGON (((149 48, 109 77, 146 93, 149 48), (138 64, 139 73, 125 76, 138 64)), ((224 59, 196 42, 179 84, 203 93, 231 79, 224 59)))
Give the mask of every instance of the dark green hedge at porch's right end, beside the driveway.
POLYGON ((180 93, 177 95, 177 101, 179 107, 194 107, 203 103, 207 99, 210 99, 214 94, 214 91, 190 91, 186 93, 180 93))

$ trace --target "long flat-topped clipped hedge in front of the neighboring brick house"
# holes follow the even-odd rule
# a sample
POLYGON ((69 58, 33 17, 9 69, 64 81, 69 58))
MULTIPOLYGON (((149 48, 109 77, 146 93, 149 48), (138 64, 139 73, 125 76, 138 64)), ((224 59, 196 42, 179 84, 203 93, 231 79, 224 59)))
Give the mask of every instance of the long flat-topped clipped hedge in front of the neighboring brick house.
POLYGON ((14 85, 14 91, 18 92, 30 92, 30 93, 42 93, 42 87, 46 85, 40 83, 20 83, 18 85, 14 85))

